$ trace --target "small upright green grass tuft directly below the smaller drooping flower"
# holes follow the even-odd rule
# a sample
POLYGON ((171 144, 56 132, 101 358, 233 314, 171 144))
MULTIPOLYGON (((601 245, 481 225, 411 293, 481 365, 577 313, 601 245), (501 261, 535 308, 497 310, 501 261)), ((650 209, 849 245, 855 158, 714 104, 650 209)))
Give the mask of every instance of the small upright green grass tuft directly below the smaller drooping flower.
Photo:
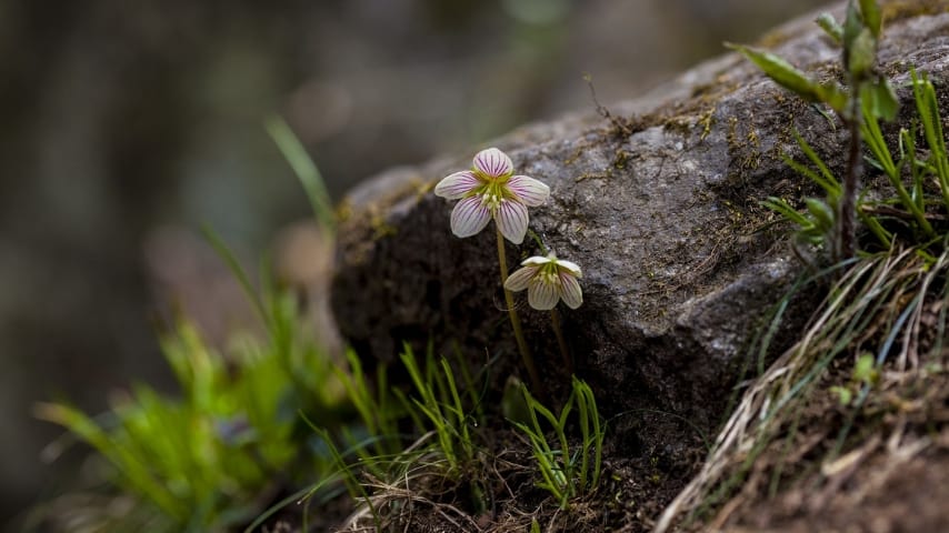
POLYGON ((529 409, 530 423, 512 421, 530 441, 533 457, 543 479, 538 486, 549 491, 560 502, 561 509, 569 506, 570 499, 589 494, 597 489, 606 434, 593 391, 577 378, 573 378, 571 384, 570 398, 559 416, 555 416, 553 412, 530 394, 527 386, 521 385, 521 392, 529 409), (567 425, 575 405, 581 440, 579 449, 571 454, 567 440, 567 425), (541 419, 553 430, 559 447, 551 445, 548 441, 541 419))

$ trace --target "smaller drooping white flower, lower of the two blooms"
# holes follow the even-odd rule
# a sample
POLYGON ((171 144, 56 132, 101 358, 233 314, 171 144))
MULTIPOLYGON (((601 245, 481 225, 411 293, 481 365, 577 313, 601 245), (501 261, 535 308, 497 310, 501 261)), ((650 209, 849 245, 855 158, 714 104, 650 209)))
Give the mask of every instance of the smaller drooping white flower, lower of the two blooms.
POLYGON ((577 281, 583 274, 577 263, 557 259, 551 252, 546 258, 528 258, 521 266, 505 282, 505 289, 527 289, 527 301, 531 308, 547 311, 553 309, 559 300, 570 309, 583 303, 583 292, 577 281))

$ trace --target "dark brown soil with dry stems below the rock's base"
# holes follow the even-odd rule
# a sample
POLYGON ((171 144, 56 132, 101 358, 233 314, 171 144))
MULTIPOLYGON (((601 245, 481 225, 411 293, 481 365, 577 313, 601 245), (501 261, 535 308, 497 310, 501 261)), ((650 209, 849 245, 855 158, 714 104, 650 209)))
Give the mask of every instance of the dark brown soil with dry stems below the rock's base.
MULTIPOLYGON (((628 532, 652 529, 652 519, 676 496, 695 474, 706 453, 705 435, 680 419, 659 412, 615 415, 605 442, 600 486, 572 500, 569 510, 559 509, 548 492, 538 489, 537 469, 527 443, 509 424, 483 425, 476 439, 492 443, 468 474, 456 482, 439 475, 403 479, 376 492, 377 509, 384 516, 381 531, 502 533, 528 531, 532 522, 541 531, 576 533, 628 532), (471 481, 478 480, 486 502, 478 510, 471 481), (382 502, 382 503, 380 503, 382 502)), ((576 442, 571 443, 576 445, 576 442)), ((339 501, 334 504, 336 526, 344 523, 339 501)), ((302 510, 298 510, 302 511, 302 510)), ((293 512, 292 510, 290 511, 293 512)), ((326 519, 326 510, 310 510, 314 519, 326 519)), ((282 517, 283 523, 302 520, 282 517)), ((321 527, 326 520, 319 520, 321 527)), ((272 525, 271 525, 272 527, 272 525)), ((320 530, 310 530, 320 531, 320 530)), ((330 530, 332 531, 332 530, 330 530)), ((358 527, 341 531, 377 531, 367 513, 358 527)))

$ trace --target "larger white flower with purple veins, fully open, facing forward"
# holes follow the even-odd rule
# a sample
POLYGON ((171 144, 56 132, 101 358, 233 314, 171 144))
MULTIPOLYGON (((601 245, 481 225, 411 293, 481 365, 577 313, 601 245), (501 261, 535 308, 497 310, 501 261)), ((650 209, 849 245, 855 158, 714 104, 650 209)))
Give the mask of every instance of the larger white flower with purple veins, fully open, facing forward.
POLYGON ((471 170, 456 172, 434 185, 434 193, 461 200, 451 211, 451 232, 471 237, 495 219, 498 230, 515 244, 527 233, 527 208, 536 208, 550 195, 550 188, 527 175, 512 175, 515 165, 497 148, 474 155, 471 170))

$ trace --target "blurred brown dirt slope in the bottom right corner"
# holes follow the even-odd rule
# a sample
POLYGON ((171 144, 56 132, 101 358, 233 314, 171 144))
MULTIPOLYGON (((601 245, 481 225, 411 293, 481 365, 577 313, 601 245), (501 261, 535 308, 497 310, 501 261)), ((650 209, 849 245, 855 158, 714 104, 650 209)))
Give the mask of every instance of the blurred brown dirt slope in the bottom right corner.
MULTIPOLYGON (((710 523, 733 532, 946 531, 949 375, 930 369, 872 392, 861 410, 841 408, 825 389, 805 408, 792 445, 775 441, 741 494, 710 523), (850 418, 843 453, 829 456, 850 418), (785 481, 772 495, 779 469, 785 481)), ((846 383, 846 376, 827 381, 846 383)))

